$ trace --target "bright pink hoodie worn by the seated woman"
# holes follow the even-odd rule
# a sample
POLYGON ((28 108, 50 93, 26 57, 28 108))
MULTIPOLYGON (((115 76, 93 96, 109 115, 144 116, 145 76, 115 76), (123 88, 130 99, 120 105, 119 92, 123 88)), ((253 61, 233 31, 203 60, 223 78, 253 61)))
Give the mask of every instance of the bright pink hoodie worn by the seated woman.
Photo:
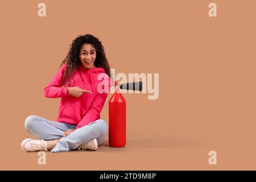
MULTIPOLYGON (((84 93, 81 97, 73 97, 67 94, 68 78, 65 86, 61 86, 65 68, 64 64, 51 82, 44 88, 44 96, 48 98, 61 97, 57 122, 77 125, 76 129, 88 125, 90 122, 100 119, 100 113, 108 93, 98 93, 97 86, 102 80, 97 80, 100 73, 106 75, 103 68, 86 69, 82 64, 75 71, 71 87, 79 86, 81 89, 92 92, 84 93)), ((109 78, 110 80, 110 78, 109 78)))

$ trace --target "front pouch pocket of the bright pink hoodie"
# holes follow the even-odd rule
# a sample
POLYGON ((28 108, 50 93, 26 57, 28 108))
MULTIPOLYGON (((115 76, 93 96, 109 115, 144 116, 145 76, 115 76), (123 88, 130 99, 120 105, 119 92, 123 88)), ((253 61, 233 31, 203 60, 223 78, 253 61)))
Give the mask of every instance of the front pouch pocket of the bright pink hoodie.
POLYGON ((80 106, 66 104, 61 112, 61 121, 66 121, 68 123, 79 123, 84 117, 86 110, 82 109, 80 106))

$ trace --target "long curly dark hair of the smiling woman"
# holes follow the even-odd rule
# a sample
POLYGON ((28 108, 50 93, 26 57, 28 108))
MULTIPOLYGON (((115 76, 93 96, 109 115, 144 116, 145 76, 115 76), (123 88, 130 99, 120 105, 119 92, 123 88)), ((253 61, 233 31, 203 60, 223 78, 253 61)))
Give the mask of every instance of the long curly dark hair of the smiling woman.
POLYGON ((62 86, 65 85, 67 76, 69 77, 68 85, 71 86, 73 74, 81 64, 79 55, 81 48, 84 44, 91 44, 96 49, 96 59, 94 61, 94 65, 97 68, 103 68, 105 70, 105 73, 110 77, 109 62, 106 58, 104 46, 102 46, 100 40, 98 40, 98 38, 90 34, 79 35, 75 40, 72 41, 68 54, 60 65, 60 67, 62 67, 63 64, 67 63, 67 68, 65 69, 62 81, 62 86))

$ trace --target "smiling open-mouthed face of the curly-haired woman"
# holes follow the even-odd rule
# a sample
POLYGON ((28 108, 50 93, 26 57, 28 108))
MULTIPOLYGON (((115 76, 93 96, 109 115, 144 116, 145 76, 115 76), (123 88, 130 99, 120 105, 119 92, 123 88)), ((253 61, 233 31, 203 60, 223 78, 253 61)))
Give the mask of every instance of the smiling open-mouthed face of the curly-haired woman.
POLYGON ((82 65, 87 68, 95 68, 94 61, 96 59, 96 49, 91 44, 82 45, 80 52, 80 60, 82 65))

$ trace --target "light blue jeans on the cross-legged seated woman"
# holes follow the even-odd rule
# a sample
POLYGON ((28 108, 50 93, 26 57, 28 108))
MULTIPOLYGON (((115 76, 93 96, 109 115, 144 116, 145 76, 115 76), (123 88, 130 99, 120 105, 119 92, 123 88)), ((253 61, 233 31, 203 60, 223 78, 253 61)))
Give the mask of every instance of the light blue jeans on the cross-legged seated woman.
POLYGON ((51 152, 66 152, 75 150, 81 144, 93 138, 97 139, 98 146, 100 146, 108 131, 108 123, 102 119, 98 119, 75 130, 76 125, 49 121, 37 115, 30 115, 26 118, 25 128, 28 133, 39 139, 55 140, 61 138, 56 146, 52 148, 51 152), (68 129, 75 131, 66 137, 62 137, 63 133, 68 129))

